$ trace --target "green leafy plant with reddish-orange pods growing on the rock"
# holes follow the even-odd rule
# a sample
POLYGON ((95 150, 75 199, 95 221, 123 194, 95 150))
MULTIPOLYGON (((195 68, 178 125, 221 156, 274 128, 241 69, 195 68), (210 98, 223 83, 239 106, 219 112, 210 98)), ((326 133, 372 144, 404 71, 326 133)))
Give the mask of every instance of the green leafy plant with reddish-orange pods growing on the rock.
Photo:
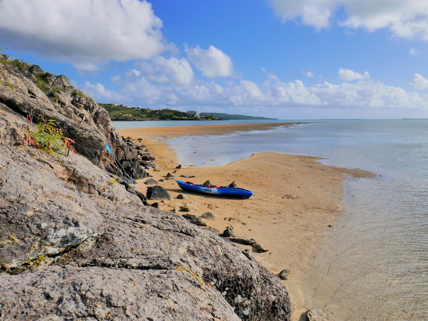
MULTIPOLYGON (((30 115, 27 116, 27 120, 33 122, 30 115)), ((55 125, 55 120, 45 120, 36 124, 37 132, 24 133, 25 141, 30 146, 39 148, 39 150, 44 151, 45 153, 51 154, 56 159, 55 156, 57 153, 66 153, 66 156, 70 151, 74 154, 77 151, 71 146, 71 143, 74 143, 70 138, 66 138, 62 133, 60 128, 57 128, 55 125)), ((61 162, 58 159, 59 162, 61 162)))

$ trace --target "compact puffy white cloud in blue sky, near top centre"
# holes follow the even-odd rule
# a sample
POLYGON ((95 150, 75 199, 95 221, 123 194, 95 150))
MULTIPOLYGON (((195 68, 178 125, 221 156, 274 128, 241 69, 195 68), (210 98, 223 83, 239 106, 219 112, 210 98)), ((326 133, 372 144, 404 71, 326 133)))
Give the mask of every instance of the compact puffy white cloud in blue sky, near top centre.
POLYGON ((187 53, 187 59, 195 65, 202 76, 208 78, 234 76, 232 59, 220 49, 209 46, 205 50, 199 45, 188 47, 186 44, 184 51, 187 53))

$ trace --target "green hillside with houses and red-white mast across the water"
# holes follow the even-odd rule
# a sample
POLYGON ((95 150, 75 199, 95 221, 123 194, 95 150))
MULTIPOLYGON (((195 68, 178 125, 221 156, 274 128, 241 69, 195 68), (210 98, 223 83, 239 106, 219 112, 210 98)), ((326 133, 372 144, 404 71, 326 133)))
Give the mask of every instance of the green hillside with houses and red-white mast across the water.
POLYGON ((115 104, 98 103, 104 107, 112 121, 200 121, 218 120, 211 115, 195 117, 187 112, 173 109, 149 109, 139 107, 115 106, 115 104))

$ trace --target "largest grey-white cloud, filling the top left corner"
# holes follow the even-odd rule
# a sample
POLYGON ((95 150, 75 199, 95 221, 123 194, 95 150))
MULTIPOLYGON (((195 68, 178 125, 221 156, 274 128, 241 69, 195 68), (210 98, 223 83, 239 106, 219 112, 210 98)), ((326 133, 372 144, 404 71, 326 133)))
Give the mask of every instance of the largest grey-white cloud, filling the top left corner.
POLYGON ((162 21, 146 1, 1 0, 0 12, 5 44, 83 70, 109 60, 151 59, 166 49, 162 21))

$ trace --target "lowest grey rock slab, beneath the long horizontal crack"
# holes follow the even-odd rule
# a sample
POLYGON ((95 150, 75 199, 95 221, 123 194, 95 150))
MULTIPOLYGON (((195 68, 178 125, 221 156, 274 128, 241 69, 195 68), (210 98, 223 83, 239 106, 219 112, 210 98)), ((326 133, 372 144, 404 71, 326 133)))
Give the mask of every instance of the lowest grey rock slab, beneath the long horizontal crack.
POLYGON ((185 271, 48 266, 6 274, 2 285, 2 320, 240 320, 220 292, 185 271))

